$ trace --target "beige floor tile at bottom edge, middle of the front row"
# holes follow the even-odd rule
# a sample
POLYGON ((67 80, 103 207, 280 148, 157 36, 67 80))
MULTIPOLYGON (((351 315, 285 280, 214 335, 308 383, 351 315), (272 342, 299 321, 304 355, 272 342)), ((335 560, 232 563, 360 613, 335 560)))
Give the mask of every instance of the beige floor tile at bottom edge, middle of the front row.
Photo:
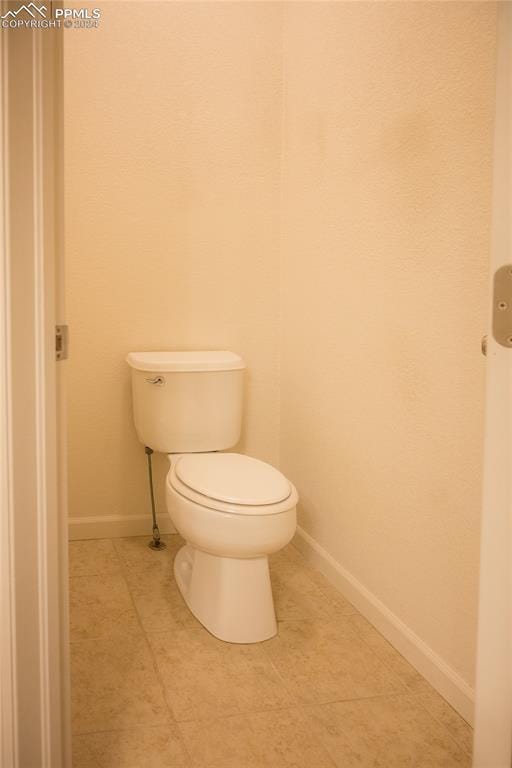
POLYGON ((180 724, 195 768, 334 768, 300 711, 180 724))

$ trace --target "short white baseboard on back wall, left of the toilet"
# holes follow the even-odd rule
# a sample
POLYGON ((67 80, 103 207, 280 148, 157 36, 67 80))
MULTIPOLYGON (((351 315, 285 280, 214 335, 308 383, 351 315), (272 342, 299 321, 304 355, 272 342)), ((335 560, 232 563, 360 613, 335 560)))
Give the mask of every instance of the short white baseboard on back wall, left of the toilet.
MULTIPOLYGON (((160 533, 176 533, 169 515, 158 515, 160 533)), ((117 539, 122 536, 151 536, 151 515, 98 515, 97 517, 70 517, 69 540, 117 539)))

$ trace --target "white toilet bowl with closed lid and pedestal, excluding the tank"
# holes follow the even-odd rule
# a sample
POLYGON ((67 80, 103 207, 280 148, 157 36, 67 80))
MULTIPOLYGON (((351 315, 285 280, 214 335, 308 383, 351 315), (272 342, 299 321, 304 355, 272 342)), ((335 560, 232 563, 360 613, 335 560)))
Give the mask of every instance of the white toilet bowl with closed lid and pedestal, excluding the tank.
POLYGON ((169 460, 167 509, 187 542, 174 561, 185 602, 221 640, 273 637, 268 555, 295 533, 297 491, 274 467, 237 453, 169 460))

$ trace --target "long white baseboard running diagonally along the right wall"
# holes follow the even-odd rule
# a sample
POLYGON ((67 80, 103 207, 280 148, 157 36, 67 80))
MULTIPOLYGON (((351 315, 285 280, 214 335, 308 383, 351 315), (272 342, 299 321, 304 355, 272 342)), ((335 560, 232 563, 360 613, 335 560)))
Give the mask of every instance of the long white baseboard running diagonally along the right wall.
POLYGON ((472 723, 474 691, 466 681, 302 528, 297 528, 293 543, 441 696, 472 723))

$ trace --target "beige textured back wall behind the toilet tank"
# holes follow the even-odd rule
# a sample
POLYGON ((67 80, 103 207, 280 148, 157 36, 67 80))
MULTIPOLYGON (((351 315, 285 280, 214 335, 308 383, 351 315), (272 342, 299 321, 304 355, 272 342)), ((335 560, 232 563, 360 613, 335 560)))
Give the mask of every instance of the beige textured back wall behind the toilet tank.
POLYGON ((242 449, 275 462, 278 447, 281 9, 102 10, 65 35, 73 517, 148 512, 130 350, 241 353, 242 449))

